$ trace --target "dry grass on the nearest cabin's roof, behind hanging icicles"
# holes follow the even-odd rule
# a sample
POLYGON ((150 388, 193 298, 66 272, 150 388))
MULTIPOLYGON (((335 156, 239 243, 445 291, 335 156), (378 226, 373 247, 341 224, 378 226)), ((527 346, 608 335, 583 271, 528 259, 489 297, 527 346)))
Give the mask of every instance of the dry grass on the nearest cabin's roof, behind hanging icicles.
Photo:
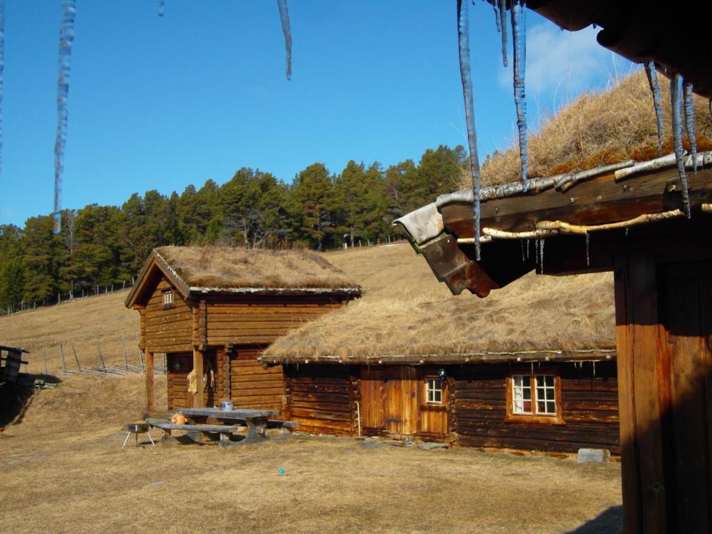
MULTIPOLYGON (((672 149, 669 80, 658 75, 663 103, 664 154, 672 149)), ((695 95, 698 150, 712 150, 712 120, 706 99, 695 95)), ((658 156, 657 126, 648 80, 639 70, 601 93, 585 93, 529 136, 529 177, 554 176, 604 164, 658 156)), ((683 132, 684 132, 683 127, 683 132)), ((689 148, 687 138, 684 145, 689 148)), ((513 142, 482 165, 485 185, 520 179, 519 146, 513 142)), ((471 187, 464 173, 461 188, 471 187)))

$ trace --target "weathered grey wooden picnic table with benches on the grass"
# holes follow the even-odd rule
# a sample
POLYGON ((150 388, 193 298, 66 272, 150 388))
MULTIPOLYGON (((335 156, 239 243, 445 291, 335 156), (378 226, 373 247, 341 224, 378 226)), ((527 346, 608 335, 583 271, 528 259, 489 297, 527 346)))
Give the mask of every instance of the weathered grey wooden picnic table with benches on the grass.
POLYGON ((157 423, 154 426, 163 430, 162 442, 171 439, 171 431, 184 430, 189 432, 202 432, 205 435, 219 434, 219 446, 236 446, 258 443, 267 439, 267 427, 270 423, 279 423, 279 426, 291 428, 295 424, 288 421, 271 421, 270 417, 279 414, 277 410, 257 409, 231 409, 217 408, 182 408, 178 410, 192 420, 192 424, 157 423), (207 419, 216 419, 225 424, 207 424, 207 419), (233 441, 231 436, 240 430, 241 426, 247 427, 247 434, 239 441, 233 441))

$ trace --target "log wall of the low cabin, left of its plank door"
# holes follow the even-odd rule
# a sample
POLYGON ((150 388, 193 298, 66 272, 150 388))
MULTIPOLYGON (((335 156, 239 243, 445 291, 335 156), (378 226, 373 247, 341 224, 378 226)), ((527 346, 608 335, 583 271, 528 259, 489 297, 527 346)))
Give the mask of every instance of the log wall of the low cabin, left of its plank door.
POLYGON ((356 436, 358 370, 347 365, 286 365, 286 414, 313 434, 356 436))

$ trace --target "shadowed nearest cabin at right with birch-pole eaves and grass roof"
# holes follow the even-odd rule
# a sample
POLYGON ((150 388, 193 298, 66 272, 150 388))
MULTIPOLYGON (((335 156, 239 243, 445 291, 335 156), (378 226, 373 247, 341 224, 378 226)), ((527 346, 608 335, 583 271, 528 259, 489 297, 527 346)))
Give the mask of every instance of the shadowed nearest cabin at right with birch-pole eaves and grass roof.
MULTIPOLYGON (((560 12, 571 13, 565 4, 560 12)), ((604 4, 589 3, 594 10, 604 4)), ((532 155, 535 177, 483 187, 477 234, 471 189, 444 194, 396 224, 455 295, 467 290, 497 300, 532 271, 612 272, 624 530, 712 532, 711 120, 707 102, 691 98, 686 131, 694 122, 696 143, 688 133, 682 153, 666 127, 655 150, 644 128, 632 132, 623 124, 643 101, 609 100, 579 117, 585 127, 569 123, 568 136, 549 135, 555 129, 545 125, 540 141, 548 139, 564 158, 547 162, 541 150, 538 163, 532 155), (602 143, 582 157, 596 130, 602 143), (617 137, 621 130, 633 135, 617 137), (523 254, 531 244, 534 253, 523 254)), ((540 328, 554 325, 540 318, 540 328)))

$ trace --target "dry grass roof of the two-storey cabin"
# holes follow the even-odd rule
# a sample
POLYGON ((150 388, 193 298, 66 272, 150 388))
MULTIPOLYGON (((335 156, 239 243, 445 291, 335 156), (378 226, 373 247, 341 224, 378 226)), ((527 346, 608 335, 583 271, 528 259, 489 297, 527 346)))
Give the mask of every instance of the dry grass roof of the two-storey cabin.
POLYGON ((189 285, 206 288, 353 288, 356 283, 323 255, 301 249, 219 246, 157 249, 189 285))

